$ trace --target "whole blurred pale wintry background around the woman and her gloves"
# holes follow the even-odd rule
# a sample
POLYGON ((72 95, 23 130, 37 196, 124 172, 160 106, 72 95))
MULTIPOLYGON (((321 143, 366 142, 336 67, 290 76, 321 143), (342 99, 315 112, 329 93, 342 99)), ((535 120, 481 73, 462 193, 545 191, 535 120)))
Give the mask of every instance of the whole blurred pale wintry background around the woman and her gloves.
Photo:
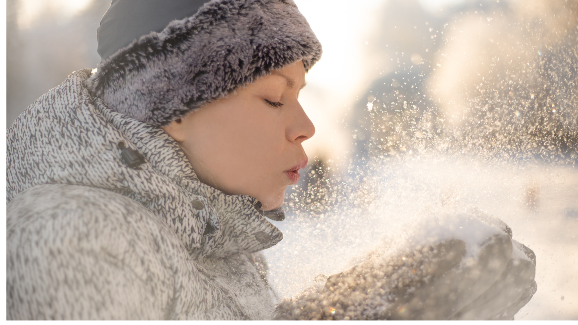
MULTIPOLYGON (((310 166, 265 252, 277 293, 343 271, 401 220, 476 207, 538 258, 516 319, 578 319, 578 1, 295 2, 324 53, 300 95, 310 166)), ((96 67, 109 4, 8 0, 7 127, 96 67)))

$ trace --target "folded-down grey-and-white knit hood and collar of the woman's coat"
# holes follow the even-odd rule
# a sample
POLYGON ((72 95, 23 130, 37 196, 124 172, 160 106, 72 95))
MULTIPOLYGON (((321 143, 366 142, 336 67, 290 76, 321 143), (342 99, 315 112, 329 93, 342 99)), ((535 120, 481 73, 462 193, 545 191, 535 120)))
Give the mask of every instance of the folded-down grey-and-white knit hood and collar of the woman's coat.
POLYGON ((255 198, 226 195, 199 182, 161 128, 92 97, 90 76, 89 69, 72 73, 8 129, 8 202, 40 184, 114 191, 168 223, 195 259, 253 253, 281 241, 283 234, 255 208, 255 198), (124 162, 119 142, 144 157, 136 169, 124 162))

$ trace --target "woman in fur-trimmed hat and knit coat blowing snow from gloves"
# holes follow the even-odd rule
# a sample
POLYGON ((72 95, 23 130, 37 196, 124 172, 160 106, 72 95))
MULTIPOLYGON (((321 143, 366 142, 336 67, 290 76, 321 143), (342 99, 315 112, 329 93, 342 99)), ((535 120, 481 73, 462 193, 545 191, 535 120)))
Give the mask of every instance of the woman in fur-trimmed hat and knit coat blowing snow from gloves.
MULTIPOLYGON (((305 18, 288 0, 117 0, 98 40, 97 69, 73 73, 8 131, 8 318, 271 319, 258 252, 283 235, 265 216, 283 219, 284 191, 307 164, 301 143, 314 134, 297 100, 321 56, 305 18)), ((436 297, 435 279, 464 278, 455 271, 462 243, 414 256, 447 271, 413 273, 411 283, 433 283, 423 297, 436 297)), ((367 297, 383 289, 343 287, 340 276, 369 279, 382 268, 365 263, 284 301, 275 317, 455 317, 492 285, 502 290, 500 276, 519 271, 508 263, 532 269, 502 231, 481 250, 493 269, 466 269, 491 275, 487 285, 471 285, 476 278, 465 296, 438 293, 454 299, 443 313, 415 304, 400 312, 407 290, 367 297), (355 290, 357 300, 344 300, 355 290)), ((526 280, 510 286, 506 306, 521 304, 513 313, 535 291, 533 274, 526 280)))

